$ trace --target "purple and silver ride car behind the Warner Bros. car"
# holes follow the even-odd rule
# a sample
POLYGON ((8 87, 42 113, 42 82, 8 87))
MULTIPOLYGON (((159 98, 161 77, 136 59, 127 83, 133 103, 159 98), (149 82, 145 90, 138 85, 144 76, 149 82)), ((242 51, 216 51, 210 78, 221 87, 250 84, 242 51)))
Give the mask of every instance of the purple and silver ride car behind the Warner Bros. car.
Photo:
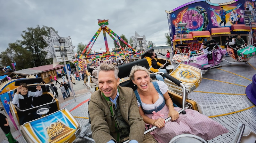
POLYGON ((198 54, 182 61, 184 64, 201 69, 203 74, 207 72, 208 69, 219 67, 223 55, 226 54, 226 50, 221 49, 214 39, 206 41, 204 44, 206 45, 206 49, 209 47, 208 53, 198 54))

